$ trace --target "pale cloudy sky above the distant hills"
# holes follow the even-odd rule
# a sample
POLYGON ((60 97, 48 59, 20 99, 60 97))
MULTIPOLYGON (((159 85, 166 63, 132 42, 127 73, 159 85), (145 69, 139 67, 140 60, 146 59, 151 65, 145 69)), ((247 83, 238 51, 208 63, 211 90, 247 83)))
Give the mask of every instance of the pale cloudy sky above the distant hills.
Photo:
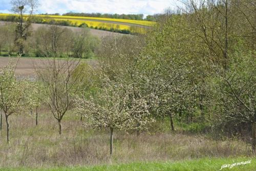
MULTIPOLYGON (((144 14, 163 13, 164 9, 174 9, 178 0, 38 0, 36 13, 110 13, 144 14)), ((0 13, 11 13, 10 0, 0 0, 0 13)))

